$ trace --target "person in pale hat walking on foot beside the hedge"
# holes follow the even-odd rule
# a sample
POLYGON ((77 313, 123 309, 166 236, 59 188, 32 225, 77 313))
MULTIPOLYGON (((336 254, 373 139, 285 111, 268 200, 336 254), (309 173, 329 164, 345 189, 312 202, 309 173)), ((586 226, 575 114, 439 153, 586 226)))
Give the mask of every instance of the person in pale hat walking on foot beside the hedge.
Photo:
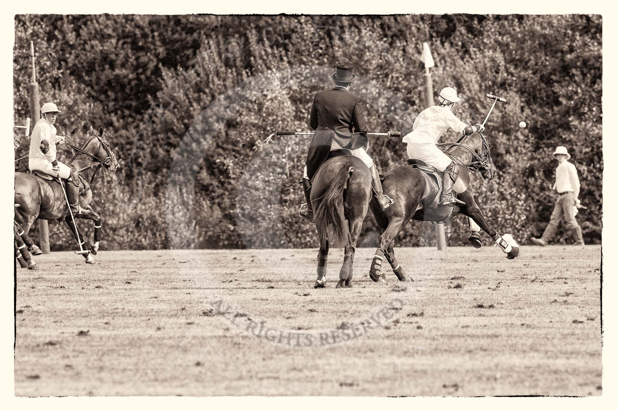
POLYGON ((581 201, 578 199, 581 183, 576 173, 576 167, 568 161, 570 155, 563 145, 555 149, 553 157, 559 161, 555 170, 555 184, 553 184, 553 190, 557 190, 558 194, 557 201, 544 234, 540 238, 531 238, 531 241, 537 245, 547 245, 555 237, 559 222, 563 221, 566 231, 574 238, 574 245, 585 245, 582 240, 581 226, 574 217, 574 208, 581 205, 581 201))

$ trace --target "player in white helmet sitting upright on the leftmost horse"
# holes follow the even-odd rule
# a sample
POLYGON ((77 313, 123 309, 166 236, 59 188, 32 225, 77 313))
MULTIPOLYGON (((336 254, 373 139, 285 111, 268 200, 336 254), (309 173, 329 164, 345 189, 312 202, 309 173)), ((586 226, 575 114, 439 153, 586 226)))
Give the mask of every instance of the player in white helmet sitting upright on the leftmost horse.
POLYGON ((62 113, 54 103, 45 103, 41 108, 41 119, 36 122, 30 137, 30 155, 28 156, 28 168, 31 171, 43 171, 54 177, 72 179, 72 184, 67 184, 68 203, 73 214, 86 214, 79 204, 79 172, 69 166, 60 163, 56 158, 56 145, 62 144, 66 137, 57 136, 57 116, 62 113))

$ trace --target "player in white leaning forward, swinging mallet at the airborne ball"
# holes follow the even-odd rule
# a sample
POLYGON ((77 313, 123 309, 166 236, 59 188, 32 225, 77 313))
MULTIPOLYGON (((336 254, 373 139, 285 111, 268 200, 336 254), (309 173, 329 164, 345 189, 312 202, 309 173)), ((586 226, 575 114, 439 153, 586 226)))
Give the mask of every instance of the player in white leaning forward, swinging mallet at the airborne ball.
POLYGON ((413 122, 413 131, 403 137, 407 143, 409 158, 417 158, 444 173, 444 185, 439 205, 454 206, 463 203, 452 193, 452 187, 458 179, 459 166, 437 147, 437 141, 444 132, 451 128, 456 132, 471 136, 476 131, 484 131, 482 124, 468 126, 458 120, 452 108, 460 101, 457 91, 445 87, 439 92, 439 105, 424 109, 413 122))

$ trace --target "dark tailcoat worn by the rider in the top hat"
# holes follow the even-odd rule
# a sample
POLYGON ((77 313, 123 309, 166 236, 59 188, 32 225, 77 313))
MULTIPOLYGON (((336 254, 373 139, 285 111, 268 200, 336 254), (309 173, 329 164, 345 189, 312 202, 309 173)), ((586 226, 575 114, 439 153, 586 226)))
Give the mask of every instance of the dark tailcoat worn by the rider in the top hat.
POLYGON ((328 158, 333 139, 349 150, 359 149, 368 142, 362 100, 341 87, 315 94, 309 125, 315 130, 307 153, 309 179, 328 158))

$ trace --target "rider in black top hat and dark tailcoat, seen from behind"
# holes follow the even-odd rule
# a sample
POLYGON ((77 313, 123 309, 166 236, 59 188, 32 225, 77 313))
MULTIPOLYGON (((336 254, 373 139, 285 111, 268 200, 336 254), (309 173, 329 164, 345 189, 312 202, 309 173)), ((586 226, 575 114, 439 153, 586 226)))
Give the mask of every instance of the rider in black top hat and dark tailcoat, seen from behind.
POLYGON ((349 150, 351 155, 360 158, 370 169, 373 195, 382 210, 386 210, 394 203, 390 197, 384 195, 377 168, 373 164, 373 159, 366 154, 368 127, 364 119, 364 104, 359 97, 349 92, 351 83, 356 79, 354 65, 350 62, 337 63, 336 73, 332 75, 332 79, 334 88, 317 92, 310 108, 309 125, 315 130, 315 134, 310 142, 302 179, 307 203, 300 207, 300 216, 310 221, 313 221, 310 181, 333 150, 349 150))

